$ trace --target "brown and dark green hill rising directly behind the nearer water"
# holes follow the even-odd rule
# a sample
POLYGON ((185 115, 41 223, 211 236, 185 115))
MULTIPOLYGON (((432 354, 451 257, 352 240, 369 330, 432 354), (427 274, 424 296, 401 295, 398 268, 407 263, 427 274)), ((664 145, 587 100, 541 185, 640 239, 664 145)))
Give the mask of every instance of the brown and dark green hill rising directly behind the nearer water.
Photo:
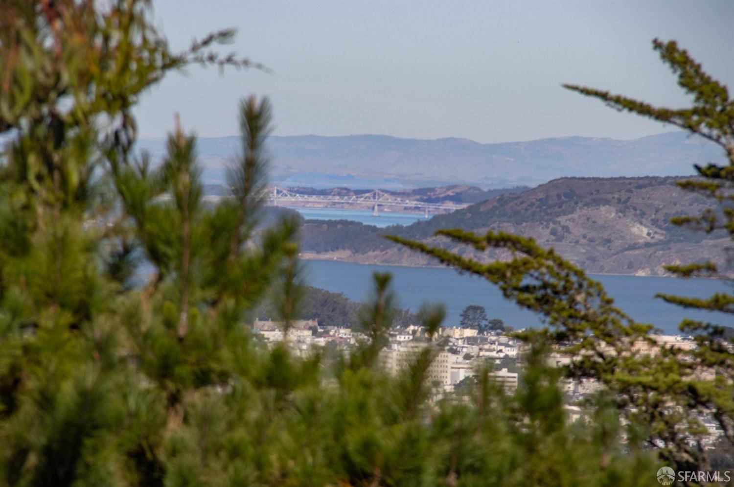
MULTIPOLYGON (((346 221, 308 221, 307 258, 363 263, 431 265, 428 258, 379 234, 434 239, 439 228, 508 231, 533 237, 593 273, 663 275, 663 264, 719 259, 727 239, 705 237, 669 223, 698 214, 704 198, 680 190, 677 178, 560 178, 532 190, 505 194, 407 227, 374 228, 346 221)), ((468 250, 468 253, 473 253, 468 250)), ((477 254, 479 256, 479 254, 477 254)), ((481 256, 483 259, 497 254, 481 256)))

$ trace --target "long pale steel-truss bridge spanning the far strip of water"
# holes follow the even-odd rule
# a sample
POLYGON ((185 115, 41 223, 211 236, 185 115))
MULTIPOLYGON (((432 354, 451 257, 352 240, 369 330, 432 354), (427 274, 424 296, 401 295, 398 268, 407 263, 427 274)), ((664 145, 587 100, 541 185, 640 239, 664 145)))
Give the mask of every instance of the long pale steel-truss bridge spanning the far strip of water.
POLYGON ((277 206, 280 203, 291 205, 299 204, 323 204, 335 203, 340 207, 364 207, 372 208, 372 214, 377 216, 380 207, 399 208, 404 210, 423 211, 426 216, 429 213, 454 212, 457 209, 466 208, 468 203, 428 203, 426 201, 399 198, 396 195, 381 190, 372 190, 359 195, 310 195, 297 192, 292 188, 273 187, 268 196, 269 203, 277 206))

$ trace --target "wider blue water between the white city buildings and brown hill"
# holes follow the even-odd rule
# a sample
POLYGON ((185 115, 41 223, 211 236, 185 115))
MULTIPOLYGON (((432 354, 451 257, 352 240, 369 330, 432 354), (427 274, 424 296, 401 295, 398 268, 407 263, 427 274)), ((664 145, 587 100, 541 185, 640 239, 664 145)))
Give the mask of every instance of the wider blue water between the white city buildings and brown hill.
MULTIPOLYGON (((393 284, 401 307, 416 311, 421 303, 444 303, 444 325, 459 324, 465 306, 478 304, 490 318, 500 318, 506 325, 526 328, 540 325, 536 314, 519 309, 505 300, 498 289, 481 278, 459 275, 455 270, 438 267, 397 267, 347 264, 338 261, 306 261, 310 284, 333 292, 343 292, 352 300, 365 300, 374 271, 393 274, 393 284)), ((688 311, 656 299, 656 293, 705 297, 713 292, 732 292, 722 281, 708 279, 636 277, 630 275, 595 275, 604 284, 616 305, 638 322, 651 323, 666 333, 678 333, 683 317, 734 326, 734 319, 722 313, 688 311)))

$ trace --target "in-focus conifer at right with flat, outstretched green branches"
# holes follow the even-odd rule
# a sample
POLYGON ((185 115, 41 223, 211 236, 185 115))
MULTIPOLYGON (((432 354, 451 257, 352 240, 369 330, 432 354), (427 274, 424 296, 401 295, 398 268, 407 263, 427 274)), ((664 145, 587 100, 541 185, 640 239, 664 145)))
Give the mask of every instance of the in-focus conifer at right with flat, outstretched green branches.
MULTIPOLYGON (((685 190, 705 195, 713 207, 700 215, 676 217, 677 226, 706 232, 727 231, 734 238, 734 101, 727 87, 712 79, 675 42, 653 42, 663 61, 678 76, 678 84, 694 98, 686 109, 653 107, 606 91, 565 85, 570 90, 599 98, 615 109, 672 123, 722 146, 728 165, 696 166, 698 178, 680 183, 685 190)), ((436 235, 479 251, 509 251, 509 261, 481 264, 473 259, 401 237, 388 237, 444 264, 480 275, 497 285, 503 295, 545 318, 549 328, 519 333, 527 341, 542 337, 558 353, 570 356, 567 377, 597 380, 611 393, 621 414, 644 425, 644 441, 676 470, 710 467, 702 440, 708 435, 703 419, 711 419, 734 440, 734 342, 724 328, 707 322, 684 320, 683 332, 697 333, 693 351, 658 347, 650 325, 634 322, 614 306, 603 287, 584 270, 562 259, 553 249, 541 248, 533 239, 489 231, 476 235, 446 229, 436 235), (647 344, 656 353, 644 354, 636 346, 647 344)), ((725 249, 724 249, 725 251, 725 249)), ((667 269, 683 278, 729 278, 713 262, 672 265, 667 269)), ((661 295, 664 300, 691 309, 734 313, 734 295, 717 293, 708 299, 661 295)), ((719 315, 721 316, 721 315, 719 315)))

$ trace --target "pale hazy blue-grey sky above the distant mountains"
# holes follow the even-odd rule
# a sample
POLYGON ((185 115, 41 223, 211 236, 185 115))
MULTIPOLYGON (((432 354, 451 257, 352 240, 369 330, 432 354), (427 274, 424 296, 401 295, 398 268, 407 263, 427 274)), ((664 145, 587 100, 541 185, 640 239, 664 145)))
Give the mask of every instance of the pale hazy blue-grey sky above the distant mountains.
POLYGON ((191 68, 145 95, 143 137, 173 113, 203 137, 236 134, 244 95, 269 95, 276 134, 388 134, 482 143, 669 131, 563 82, 686 104, 650 48, 678 40, 734 88, 734 1, 308 2, 157 0, 172 46, 224 27, 274 73, 191 68))

